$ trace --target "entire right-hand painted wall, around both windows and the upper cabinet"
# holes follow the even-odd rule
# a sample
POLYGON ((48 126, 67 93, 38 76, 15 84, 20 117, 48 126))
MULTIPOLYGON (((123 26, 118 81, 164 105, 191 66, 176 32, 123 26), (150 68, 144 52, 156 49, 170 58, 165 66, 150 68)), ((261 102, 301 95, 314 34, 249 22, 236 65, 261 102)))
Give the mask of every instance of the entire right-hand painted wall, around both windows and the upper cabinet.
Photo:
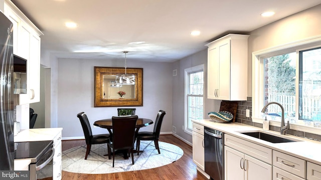
MULTIPOLYGON (((317 36, 321 34, 321 5, 298 12, 271 24, 248 33, 248 96, 252 96, 252 52, 279 46, 289 42, 317 36)), ((204 43, 205 44, 205 43, 204 43)), ((207 50, 195 53, 173 63, 177 76, 173 78, 173 125, 177 127, 177 135, 192 142, 192 136, 182 129, 184 125, 184 69, 205 64, 207 76, 207 50)), ((205 87, 207 97, 207 87, 205 87)), ((205 99, 205 115, 219 110, 220 100, 205 99)))

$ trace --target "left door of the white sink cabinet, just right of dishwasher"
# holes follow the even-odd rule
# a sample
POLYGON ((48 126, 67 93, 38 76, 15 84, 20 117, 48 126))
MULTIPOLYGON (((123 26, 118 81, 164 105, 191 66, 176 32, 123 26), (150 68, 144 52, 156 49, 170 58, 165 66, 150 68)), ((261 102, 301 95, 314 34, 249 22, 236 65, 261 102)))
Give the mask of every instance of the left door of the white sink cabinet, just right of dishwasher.
POLYGON ((244 153, 237 151, 235 149, 232 149, 228 146, 224 146, 225 180, 244 179, 243 160, 244 160, 244 153))

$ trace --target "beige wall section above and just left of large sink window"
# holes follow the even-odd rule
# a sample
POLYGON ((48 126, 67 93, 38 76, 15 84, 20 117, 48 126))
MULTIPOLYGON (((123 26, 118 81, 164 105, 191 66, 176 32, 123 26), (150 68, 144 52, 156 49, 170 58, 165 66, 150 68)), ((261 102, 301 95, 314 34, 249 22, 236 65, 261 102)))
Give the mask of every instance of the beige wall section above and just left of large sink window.
POLYGON ((321 4, 249 33, 248 96, 252 96, 252 52, 321 35, 321 4))

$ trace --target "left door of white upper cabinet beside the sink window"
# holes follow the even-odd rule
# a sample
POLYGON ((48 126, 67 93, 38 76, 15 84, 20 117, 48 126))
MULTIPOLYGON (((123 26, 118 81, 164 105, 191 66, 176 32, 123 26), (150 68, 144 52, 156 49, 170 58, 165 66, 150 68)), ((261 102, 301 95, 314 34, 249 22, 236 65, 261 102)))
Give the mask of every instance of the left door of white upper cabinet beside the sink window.
POLYGON ((217 46, 209 47, 207 60, 207 98, 215 99, 218 97, 218 57, 219 51, 217 46))

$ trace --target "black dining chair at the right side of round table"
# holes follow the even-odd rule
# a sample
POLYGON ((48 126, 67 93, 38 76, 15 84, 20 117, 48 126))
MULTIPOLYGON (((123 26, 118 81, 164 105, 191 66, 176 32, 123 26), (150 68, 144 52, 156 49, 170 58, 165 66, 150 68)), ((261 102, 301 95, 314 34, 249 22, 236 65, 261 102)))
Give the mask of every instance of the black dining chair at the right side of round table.
POLYGON ((161 126, 163 122, 163 118, 166 112, 164 110, 159 110, 156 116, 155 124, 154 124, 154 129, 152 132, 149 131, 142 131, 138 132, 136 134, 137 138, 137 155, 139 155, 139 145, 140 145, 140 140, 153 140, 155 144, 155 148, 158 150, 158 153, 160 154, 161 151, 159 150, 158 146, 158 139, 159 139, 159 133, 161 133, 161 126))

